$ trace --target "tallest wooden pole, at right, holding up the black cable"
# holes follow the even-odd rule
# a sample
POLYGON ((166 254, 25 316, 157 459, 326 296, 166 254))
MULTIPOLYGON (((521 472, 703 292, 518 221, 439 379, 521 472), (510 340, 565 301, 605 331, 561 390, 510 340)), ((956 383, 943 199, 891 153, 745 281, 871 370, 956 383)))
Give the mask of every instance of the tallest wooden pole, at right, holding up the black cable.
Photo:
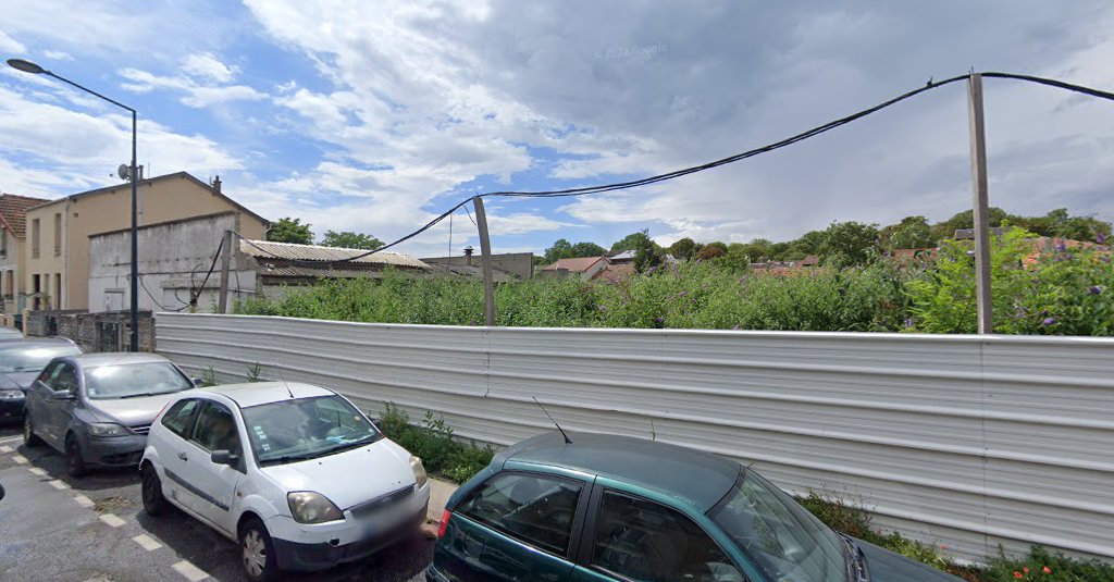
POLYGON ((971 135, 971 186, 975 194, 975 294, 978 332, 994 333, 990 298, 989 194, 986 180, 986 127, 983 123, 983 76, 967 78, 967 105, 971 135))

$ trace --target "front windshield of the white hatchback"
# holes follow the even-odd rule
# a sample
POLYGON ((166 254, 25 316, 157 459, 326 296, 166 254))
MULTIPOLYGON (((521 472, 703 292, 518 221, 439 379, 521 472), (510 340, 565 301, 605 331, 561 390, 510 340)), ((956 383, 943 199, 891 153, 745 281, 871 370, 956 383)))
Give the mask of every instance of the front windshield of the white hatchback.
POLYGON ((283 464, 374 443, 379 430, 344 398, 319 396, 244 408, 260 464, 283 464))

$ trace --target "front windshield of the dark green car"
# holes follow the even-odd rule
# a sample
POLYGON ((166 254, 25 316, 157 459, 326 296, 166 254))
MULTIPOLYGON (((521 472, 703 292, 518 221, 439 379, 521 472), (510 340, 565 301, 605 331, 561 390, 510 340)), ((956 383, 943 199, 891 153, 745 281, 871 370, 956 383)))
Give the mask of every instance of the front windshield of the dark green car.
POLYGON ((769 580, 847 580, 842 539, 754 472, 744 471, 709 516, 769 580))

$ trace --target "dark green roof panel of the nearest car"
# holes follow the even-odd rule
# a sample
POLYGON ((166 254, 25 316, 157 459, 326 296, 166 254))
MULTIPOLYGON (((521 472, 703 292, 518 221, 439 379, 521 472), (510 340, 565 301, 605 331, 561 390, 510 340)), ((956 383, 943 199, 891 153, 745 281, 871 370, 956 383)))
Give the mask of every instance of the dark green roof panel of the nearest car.
POLYGON ((702 512, 711 510, 734 485, 742 465, 711 453, 616 435, 547 433, 524 440, 499 457, 518 463, 565 467, 606 476, 673 495, 702 512))

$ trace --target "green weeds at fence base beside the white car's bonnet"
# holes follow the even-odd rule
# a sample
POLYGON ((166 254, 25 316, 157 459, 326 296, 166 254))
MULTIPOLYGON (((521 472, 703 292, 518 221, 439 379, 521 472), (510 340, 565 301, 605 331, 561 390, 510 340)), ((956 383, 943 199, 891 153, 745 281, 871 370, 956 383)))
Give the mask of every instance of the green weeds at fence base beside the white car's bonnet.
POLYGON ((426 471, 455 483, 470 479, 491 463, 495 454, 490 446, 457 439, 444 419, 428 410, 420 424, 412 424, 405 410, 388 402, 379 425, 388 438, 421 457, 426 471))

